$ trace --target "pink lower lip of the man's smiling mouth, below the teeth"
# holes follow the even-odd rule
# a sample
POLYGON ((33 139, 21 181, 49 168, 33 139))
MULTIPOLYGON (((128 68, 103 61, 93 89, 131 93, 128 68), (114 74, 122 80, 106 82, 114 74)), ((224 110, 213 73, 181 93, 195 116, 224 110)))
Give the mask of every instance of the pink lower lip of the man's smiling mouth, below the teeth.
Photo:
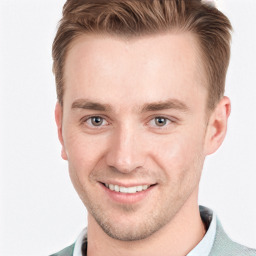
POLYGON ((105 190, 105 192, 107 193, 107 195, 110 197, 111 200, 121 204, 135 204, 142 201, 147 196, 149 196, 149 193, 156 186, 156 185, 153 185, 146 190, 136 192, 136 193, 121 193, 121 192, 110 190, 109 188, 105 187, 102 183, 100 183, 100 185, 105 190))

